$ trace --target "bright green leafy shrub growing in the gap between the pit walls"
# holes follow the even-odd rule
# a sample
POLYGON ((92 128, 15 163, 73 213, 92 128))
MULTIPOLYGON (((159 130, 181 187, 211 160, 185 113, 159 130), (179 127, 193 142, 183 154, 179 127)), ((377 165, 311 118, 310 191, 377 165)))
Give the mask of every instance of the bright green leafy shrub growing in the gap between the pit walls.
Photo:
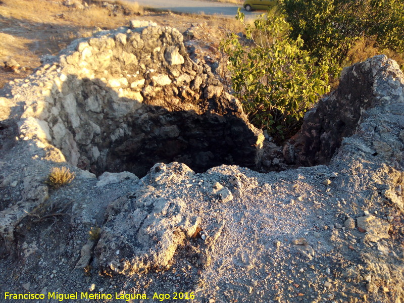
POLYGON ((288 37, 283 15, 268 13, 244 22, 246 38, 231 34, 221 43, 228 55, 232 87, 249 121, 268 129, 275 139, 290 136, 301 118, 322 94, 329 91, 328 65, 302 50, 304 41, 288 37))

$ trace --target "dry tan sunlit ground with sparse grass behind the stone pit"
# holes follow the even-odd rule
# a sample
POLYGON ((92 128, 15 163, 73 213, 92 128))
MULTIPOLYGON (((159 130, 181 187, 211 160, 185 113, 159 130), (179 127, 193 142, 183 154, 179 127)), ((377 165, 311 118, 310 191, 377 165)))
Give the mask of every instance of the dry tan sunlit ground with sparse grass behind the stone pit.
POLYGON ((122 0, 85 0, 83 4, 84 9, 80 9, 66 6, 62 0, 2 0, 0 88, 13 79, 31 74, 33 69, 40 66, 41 56, 55 55, 76 38, 88 37, 100 29, 127 25, 133 19, 173 26, 181 32, 192 24, 204 24, 201 38, 207 44, 220 41, 227 31, 242 31, 239 23, 233 19, 223 22, 223 18, 216 16, 146 11, 137 3, 122 0), (14 59, 21 66, 18 73, 3 68, 3 62, 9 59, 14 59))

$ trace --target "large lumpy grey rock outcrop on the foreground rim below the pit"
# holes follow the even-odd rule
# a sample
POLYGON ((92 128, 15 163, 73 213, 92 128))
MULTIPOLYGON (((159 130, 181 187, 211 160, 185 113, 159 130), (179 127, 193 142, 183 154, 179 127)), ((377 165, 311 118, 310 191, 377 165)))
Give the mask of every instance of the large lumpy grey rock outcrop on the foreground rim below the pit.
MULTIPOLYGON (((150 170, 151 185, 160 178, 161 171, 150 170)), ((136 198, 117 199, 108 206, 106 218, 95 254, 102 268, 129 276, 169 266, 177 246, 192 236, 201 222, 187 211, 183 200, 156 196, 152 186, 136 198)))

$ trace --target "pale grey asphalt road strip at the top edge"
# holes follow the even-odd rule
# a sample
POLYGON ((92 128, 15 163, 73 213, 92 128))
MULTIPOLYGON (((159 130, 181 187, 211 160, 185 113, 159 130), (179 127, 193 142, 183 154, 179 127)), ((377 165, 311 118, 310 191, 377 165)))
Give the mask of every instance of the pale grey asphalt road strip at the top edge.
MULTIPOLYGON (((141 6, 169 10, 177 13, 205 13, 207 15, 222 15, 223 17, 234 18, 240 6, 227 3, 195 0, 131 0, 141 6)), ((246 12, 241 9, 246 19, 254 18, 264 12, 246 12)))

